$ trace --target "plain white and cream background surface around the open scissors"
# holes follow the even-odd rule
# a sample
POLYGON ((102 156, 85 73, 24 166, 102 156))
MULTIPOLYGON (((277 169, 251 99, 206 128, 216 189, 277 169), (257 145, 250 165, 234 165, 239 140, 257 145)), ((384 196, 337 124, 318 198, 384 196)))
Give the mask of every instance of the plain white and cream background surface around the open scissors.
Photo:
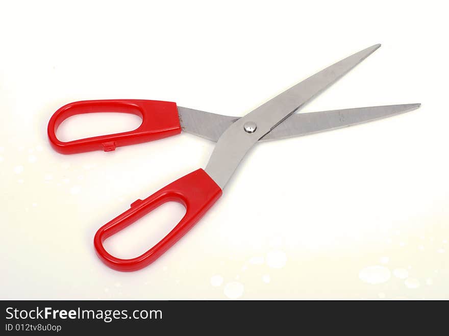
MULTIPOLYGON (((449 298, 446 14, 437 1, 2 1, 0 298, 449 298), (182 134, 63 156, 46 138, 59 107, 138 98, 242 116, 376 43, 302 111, 420 109, 260 144, 157 262, 98 260, 97 228, 205 167, 214 144, 182 134)), ((138 124, 85 115, 58 136, 138 124)), ((106 247, 138 255, 183 211, 166 204, 106 247)))

